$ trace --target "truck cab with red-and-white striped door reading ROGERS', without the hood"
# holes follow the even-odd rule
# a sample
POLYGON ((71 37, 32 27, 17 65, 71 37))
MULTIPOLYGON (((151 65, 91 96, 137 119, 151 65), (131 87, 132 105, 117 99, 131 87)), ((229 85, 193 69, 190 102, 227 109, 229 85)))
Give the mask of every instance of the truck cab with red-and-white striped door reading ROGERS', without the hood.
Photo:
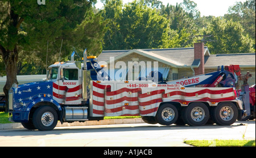
POLYGON ((81 63, 57 62, 49 66, 48 81, 53 83, 53 99, 63 105, 80 105, 82 98, 81 63))

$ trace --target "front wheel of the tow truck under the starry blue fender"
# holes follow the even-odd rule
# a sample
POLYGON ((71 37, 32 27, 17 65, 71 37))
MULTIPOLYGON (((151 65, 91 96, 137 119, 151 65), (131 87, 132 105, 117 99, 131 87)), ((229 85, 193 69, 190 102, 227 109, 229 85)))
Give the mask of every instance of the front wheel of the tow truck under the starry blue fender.
POLYGON ((58 115, 55 109, 50 106, 41 106, 35 110, 33 123, 40 131, 50 131, 57 124, 58 115))

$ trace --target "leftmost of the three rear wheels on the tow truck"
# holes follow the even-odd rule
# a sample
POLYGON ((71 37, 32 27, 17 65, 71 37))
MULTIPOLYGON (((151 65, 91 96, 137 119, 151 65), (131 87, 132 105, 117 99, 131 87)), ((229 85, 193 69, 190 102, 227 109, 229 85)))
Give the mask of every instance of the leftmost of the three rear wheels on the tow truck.
POLYGON ((170 103, 166 103, 159 107, 155 118, 159 124, 171 125, 175 123, 178 118, 177 108, 170 103))

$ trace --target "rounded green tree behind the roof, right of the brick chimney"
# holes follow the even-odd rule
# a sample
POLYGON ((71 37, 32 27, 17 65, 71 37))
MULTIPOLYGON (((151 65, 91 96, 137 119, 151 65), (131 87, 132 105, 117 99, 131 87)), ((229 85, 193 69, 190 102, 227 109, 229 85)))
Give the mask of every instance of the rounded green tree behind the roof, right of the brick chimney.
POLYGON ((214 38, 205 45, 211 53, 249 53, 254 52, 253 42, 248 35, 243 35, 240 23, 220 17, 213 18, 203 30, 204 35, 213 35, 214 38))

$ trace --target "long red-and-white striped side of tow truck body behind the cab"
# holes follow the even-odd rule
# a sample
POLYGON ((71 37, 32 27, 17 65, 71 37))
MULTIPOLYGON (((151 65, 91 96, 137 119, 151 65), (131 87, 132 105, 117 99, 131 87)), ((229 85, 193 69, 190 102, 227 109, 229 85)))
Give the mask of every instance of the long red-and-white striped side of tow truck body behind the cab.
POLYGON ((189 102, 208 102, 216 106, 218 102, 236 101, 233 88, 181 89, 181 85, 158 85, 150 81, 146 87, 138 87, 138 81, 101 81, 100 84, 93 81, 92 84, 92 117, 155 116, 160 103, 170 101, 179 102, 181 106, 189 102), (131 88, 130 84, 137 86, 131 88))

